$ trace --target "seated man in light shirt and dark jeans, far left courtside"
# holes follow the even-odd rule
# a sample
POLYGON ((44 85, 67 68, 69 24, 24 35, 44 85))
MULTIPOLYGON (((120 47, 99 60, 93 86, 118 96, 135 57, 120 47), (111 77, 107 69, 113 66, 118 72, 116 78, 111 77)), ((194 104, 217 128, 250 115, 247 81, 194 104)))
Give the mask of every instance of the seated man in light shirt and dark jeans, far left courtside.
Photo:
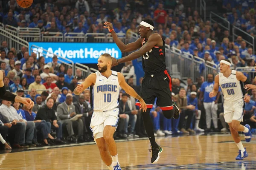
MULTIPOLYGON (((23 120, 18 114, 14 107, 11 106, 12 102, 3 100, 2 105, 0 106, 0 111, 3 116, 6 117, 6 119, 9 122, 15 121, 17 124, 21 125, 21 131, 24 132, 20 135, 20 140, 18 144, 23 147, 35 147, 35 144, 32 144, 33 140, 33 134, 35 129, 35 123, 23 120), (26 132, 26 137, 25 137, 26 132)), ((18 145, 17 145, 18 147, 18 145)))

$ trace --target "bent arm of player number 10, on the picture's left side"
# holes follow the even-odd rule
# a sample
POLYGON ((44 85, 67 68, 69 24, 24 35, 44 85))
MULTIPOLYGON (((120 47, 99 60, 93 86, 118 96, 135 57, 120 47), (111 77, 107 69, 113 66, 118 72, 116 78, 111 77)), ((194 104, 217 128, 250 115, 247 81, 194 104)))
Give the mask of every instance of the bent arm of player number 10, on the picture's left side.
POLYGON ((96 81, 96 74, 95 73, 90 74, 84 80, 84 82, 82 82, 82 84, 79 84, 79 85, 76 86, 76 88, 74 90, 74 94, 76 94, 76 95, 81 94, 85 89, 87 89, 91 85, 94 85, 95 81, 96 81))

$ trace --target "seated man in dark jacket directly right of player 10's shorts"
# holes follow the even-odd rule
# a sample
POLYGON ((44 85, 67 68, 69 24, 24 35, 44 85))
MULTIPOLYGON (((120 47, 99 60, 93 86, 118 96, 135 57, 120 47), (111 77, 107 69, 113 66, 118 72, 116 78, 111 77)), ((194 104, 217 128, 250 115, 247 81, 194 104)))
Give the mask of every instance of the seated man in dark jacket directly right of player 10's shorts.
MULTIPOLYGON (((131 111, 131 109, 129 108, 129 105, 128 105, 128 94, 122 94, 122 99, 120 100, 119 102, 119 113, 120 114, 126 114, 128 115, 129 117, 129 120, 128 120, 128 124, 130 124, 130 129, 128 130, 128 126, 124 129, 124 132, 126 134, 128 134, 128 137, 129 138, 133 138, 134 137, 134 129, 135 129, 135 125, 136 125, 136 121, 137 121, 137 114, 138 114, 138 111, 137 110, 134 110, 134 111, 131 111)), ((128 125, 126 123, 126 125, 128 125)))

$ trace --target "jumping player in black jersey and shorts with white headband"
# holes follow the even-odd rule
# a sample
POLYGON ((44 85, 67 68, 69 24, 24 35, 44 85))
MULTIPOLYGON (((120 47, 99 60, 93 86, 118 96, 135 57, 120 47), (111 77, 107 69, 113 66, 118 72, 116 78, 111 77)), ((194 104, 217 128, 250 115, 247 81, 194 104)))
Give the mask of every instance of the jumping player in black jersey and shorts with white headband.
MULTIPOLYGON (((131 61, 139 57, 142 58, 143 77, 140 96, 147 104, 147 108, 152 108, 154 100, 157 97, 157 106, 163 111, 163 115, 167 119, 174 117, 177 119, 180 115, 179 109, 172 100, 172 79, 166 71, 165 42, 160 34, 153 33, 154 23, 152 20, 143 20, 140 23, 140 38, 132 43, 125 45, 117 37, 112 23, 105 22, 108 31, 111 32, 114 42, 122 52, 140 50, 129 54, 121 59, 113 58, 112 66, 123 62, 131 61)), ((140 105, 137 102, 136 105, 140 105)), ((154 137, 153 123, 149 115, 150 109, 142 112, 145 130, 151 143, 152 158, 151 163, 155 164, 160 158, 163 148, 157 145, 154 137)))

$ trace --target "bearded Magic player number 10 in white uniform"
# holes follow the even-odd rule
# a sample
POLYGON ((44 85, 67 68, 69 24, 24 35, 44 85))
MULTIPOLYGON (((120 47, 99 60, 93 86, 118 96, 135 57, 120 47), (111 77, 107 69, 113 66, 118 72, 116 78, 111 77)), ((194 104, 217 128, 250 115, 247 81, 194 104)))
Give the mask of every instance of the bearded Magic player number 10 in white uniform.
POLYGON ((126 82, 125 77, 111 70, 112 57, 102 54, 98 59, 99 71, 90 74, 81 85, 74 90, 79 95, 93 85, 93 115, 90 128, 99 148, 102 160, 110 170, 121 170, 117 159, 116 143, 113 134, 119 121, 119 91, 120 87, 134 98, 142 101, 141 109, 145 111, 147 105, 144 100, 126 82))

